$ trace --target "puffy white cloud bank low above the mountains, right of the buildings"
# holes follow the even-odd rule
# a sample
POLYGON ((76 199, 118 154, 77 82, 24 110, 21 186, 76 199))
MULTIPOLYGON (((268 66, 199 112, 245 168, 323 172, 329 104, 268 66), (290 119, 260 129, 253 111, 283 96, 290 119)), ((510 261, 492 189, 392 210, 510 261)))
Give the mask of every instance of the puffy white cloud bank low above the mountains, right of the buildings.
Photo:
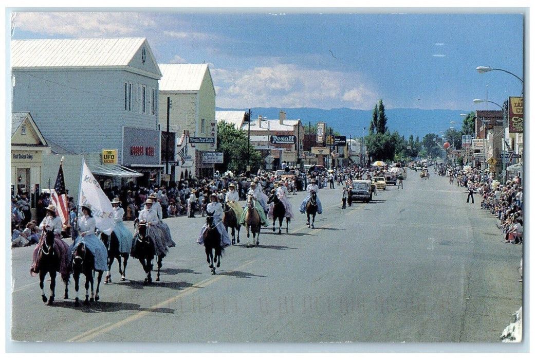
POLYGON ((279 64, 249 70, 211 69, 222 108, 349 107, 369 109, 376 93, 358 74, 279 64))

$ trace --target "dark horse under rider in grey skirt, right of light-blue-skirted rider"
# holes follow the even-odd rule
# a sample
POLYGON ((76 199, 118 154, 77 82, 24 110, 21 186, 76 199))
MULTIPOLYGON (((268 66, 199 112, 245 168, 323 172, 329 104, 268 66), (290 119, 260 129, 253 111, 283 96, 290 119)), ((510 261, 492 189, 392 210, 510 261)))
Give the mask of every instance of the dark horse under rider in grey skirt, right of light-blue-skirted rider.
POLYGON ((154 260, 154 257, 156 257, 156 265, 158 266, 156 281, 160 281, 160 269, 162 268, 162 259, 165 257, 165 254, 156 253, 156 239, 154 238, 154 233, 151 233, 150 225, 139 223, 139 219, 134 221, 134 226, 136 224, 137 231, 134 236, 131 255, 139 259, 141 266, 143 266, 143 271, 146 274, 143 284, 152 283, 150 272, 152 271, 152 260, 154 260))

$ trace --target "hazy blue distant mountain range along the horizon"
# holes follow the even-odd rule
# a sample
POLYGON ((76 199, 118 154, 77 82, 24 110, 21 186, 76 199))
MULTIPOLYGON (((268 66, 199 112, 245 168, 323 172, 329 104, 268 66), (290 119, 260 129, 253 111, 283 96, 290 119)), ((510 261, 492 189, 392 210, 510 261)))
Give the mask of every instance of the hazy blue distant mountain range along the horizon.
MULTIPOLYGON (((249 109, 223 109, 218 111, 249 109)), ((325 122, 328 127, 338 131, 342 136, 362 137, 368 134, 368 127, 372 118, 373 110, 355 110, 348 108, 340 109, 317 109, 317 108, 251 108, 251 117, 258 118, 262 115, 268 119, 278 119, 279 111, 286 112, 286 118, 301 119, 306 126, 315 125, 317 122, 325 122), (366 128, 364 131, 364 127, 366 128)), ((406 139, 410 135, 418 136, 420 140, 425 134, 446 131, 454 121, 455 129, 459 130, 464 119, 460 114, 468 114, 469 110, 423 110, 423 109, 385 109, 387 117, 386 126, 390 132, 398 131, 406 139)))

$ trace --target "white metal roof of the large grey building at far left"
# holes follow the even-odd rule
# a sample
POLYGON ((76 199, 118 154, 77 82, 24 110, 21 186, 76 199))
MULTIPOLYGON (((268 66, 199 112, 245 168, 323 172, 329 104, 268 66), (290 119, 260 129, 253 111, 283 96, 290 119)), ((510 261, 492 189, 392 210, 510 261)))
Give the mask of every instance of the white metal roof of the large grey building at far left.
POLYGON ((12 68, 126 66, 144 38, 12 40, 12 68))

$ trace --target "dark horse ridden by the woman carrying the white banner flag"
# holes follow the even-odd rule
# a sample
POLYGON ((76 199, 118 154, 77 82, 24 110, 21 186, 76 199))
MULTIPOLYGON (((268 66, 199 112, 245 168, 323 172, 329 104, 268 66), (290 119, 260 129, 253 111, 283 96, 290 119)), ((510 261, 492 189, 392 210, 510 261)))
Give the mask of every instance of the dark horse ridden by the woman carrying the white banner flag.
POLYGON ((74 290, 76 297, 74 298, 74 306, 80 306, 80 299, 78 297, 80 274, 86 277, 86 300, 83 302, 89 305, 89 302, 98 301, 98 289, 102 280, 102 270, 95 270, 95 257, 91 251, 86 248, 86 244, 79 242, 72 252, 72 273, 74 277, 74 290), (97 287, 94 291, 94 273, 97 272, 97 287), (89 297, 89 284, 91 284, 91 297, 89 297))

